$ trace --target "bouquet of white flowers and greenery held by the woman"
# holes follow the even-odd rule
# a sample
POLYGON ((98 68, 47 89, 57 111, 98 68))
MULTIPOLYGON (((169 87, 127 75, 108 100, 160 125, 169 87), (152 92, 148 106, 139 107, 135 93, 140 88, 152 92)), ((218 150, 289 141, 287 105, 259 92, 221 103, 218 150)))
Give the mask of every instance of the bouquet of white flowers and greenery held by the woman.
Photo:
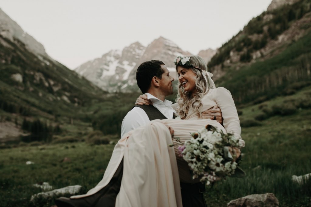
POLYGON ((193 172, 193 179, 201 178, 207 185, 226 176, 244 176, 237 167, 234 148, 244 146, 244 141, 233 134, 225 134, 216 127, 207 125, 195 133, 192 138, 178 147, 179 155, 188 163, 193 172))

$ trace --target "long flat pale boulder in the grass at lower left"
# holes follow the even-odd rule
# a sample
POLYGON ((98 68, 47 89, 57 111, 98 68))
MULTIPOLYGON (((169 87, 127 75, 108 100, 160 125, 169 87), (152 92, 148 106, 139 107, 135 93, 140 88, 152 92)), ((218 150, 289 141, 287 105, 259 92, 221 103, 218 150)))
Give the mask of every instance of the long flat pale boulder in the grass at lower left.
POLYGON ((80 191, 81 187, 82 186, 79 186, 79 185, 67 186, 64 188, 55 189, 53 191, 37 193, 37 194, 31 196, 30 201, 34 201, 34 199, 36 199, 37 197, 44 197, 44 198, 56 197, 56 196, 60 196, 63 194, 68 194, 68 193, 71 195, 74 195, 80 191))

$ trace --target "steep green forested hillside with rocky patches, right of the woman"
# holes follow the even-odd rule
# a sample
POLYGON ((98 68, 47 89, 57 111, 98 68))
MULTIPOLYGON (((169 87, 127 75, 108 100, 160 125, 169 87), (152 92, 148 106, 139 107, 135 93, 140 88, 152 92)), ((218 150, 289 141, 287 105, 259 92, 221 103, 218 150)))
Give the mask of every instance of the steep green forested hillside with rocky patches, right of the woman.
POLYGON ((258 103, 310 84, 311 3, 301 0, 253 18, 208 63, 237 104, 258 103))

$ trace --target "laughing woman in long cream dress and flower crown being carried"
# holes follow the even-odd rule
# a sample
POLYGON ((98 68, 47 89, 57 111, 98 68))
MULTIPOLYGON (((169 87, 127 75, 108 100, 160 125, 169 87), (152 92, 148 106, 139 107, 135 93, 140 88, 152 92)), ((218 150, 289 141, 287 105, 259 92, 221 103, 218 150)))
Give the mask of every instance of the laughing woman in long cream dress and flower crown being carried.
MULTIPOLYGON (((188 198, 185 197, 191 192, 185 191, 187 187, 181 186, 180 182, 192 184, 197 181, 192 179, 188 164, 175 155, 178 154, 177 147, 168 147, 174 144, 169 128, 174 129, 174 136, 182 141, 191 138, 190 132, 207 124, 223 132, 233 133, 239 139, 241 128, 230 92, 215 87, 201 57, 178 57, 174 63, 179 86, 176 104, 172 106, 181 119, 157 119, 128 132, 115 146, 104 177, 97 186, 86 195, 72 196, 70 199, 74 201, 84 198, 84 203, 63 205, 62 202, 66 203, 66 200, 60 199, 55 201, 59 207, 92 206, 87 202, 88 196, 104 189, 117 173, 123 177, 115 206, 188 206, 188 198), (223 126, 216 120, 202 119, 201 112, 215 105, 221 109, 223 126), (121 162, 123 170, 119 168, 121 162)), ((240 142, 244 143, 243 140, 240 142)), ((239 154, 239 151, 236 153, 239 154)))

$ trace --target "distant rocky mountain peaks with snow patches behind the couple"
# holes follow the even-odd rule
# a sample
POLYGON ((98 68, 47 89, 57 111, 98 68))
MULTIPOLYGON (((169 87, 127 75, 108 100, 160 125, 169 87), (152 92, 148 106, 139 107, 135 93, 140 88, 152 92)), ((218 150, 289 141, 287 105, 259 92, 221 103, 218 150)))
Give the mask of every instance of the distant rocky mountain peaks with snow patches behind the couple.
MULTIPOLYGON (((215 50, 208 49, 200 51, 199 54, 209 61, 215 53, 215 50)), ((125 47, 122 52, 111 50, 101 58, 82 64, 75 71, 109 92, 139 91, 136 84, 136 70, 142 62, 152 59, 161 60, 169 71, 175 73, 173 61, 179 55, 190 56, 192 54, 183 51, 173 41, 159 37, 147 47, 135 42, 125 47)))

